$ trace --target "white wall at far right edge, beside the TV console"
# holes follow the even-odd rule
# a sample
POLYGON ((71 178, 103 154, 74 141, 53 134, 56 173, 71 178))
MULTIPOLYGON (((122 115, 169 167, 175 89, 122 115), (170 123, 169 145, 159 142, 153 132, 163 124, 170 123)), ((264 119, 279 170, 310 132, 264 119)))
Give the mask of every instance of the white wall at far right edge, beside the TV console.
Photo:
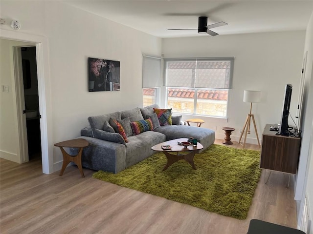
MULTIPOLYGON (((298 208, 298 226, 301 224, 301 218, 304 208, 304 197, 307 196, 311 227, 310 233, 313 234, 313 12, 307 27, 304 53, 308 51, 307 66, 305 73, 305 91, 304 91, 304 113, 303 113, 303 137, 301 143, 301 153, 299 161, 299 170, 295 197, 301 200, 298 208)), ((305 230, 307 232, 308 230, 305 230)))

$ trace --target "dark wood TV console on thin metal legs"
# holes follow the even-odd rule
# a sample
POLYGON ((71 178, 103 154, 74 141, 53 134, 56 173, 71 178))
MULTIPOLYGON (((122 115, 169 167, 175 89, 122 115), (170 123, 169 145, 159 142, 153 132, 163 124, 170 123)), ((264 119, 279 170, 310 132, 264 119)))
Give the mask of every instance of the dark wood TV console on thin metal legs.
POLYGON ((269 131, 267 124, 262 134, 260 168, 296 174, 299 162, 301 137, 286 137, 269 131))

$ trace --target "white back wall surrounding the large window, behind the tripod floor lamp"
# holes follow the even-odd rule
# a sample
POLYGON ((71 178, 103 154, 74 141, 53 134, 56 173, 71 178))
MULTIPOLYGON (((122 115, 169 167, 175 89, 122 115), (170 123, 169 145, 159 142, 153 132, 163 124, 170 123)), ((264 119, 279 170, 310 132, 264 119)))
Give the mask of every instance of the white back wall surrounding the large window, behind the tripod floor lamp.
MULTIPOLYGON (((305 31, 162 39, 162 54, 164 58, 234 57, 228 120, 201 117, 202 126, 216 130, 220 139, 224 138, 222 127, 233 127, 236 131, 231 138, 238 140, 250 108, 250 103, 243 102, 244 90, 260 90, 262 101, 253 103, 252 113, 261 139, 267 123, 280 122, 287 83, 293 85, 291 116, 295 117, 304 39, 305 31)), ((293 125, 291 119, 289 124, 293 125)), ((250 130, 247 142, 257 144, 253 127, 250 130)))

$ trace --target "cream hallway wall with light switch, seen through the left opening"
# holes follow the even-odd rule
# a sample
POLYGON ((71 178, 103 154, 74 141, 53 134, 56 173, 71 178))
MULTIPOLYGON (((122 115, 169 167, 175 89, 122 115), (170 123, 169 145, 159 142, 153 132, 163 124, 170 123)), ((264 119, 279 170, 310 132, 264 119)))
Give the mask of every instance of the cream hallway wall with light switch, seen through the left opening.
POLYGON ((21 163, 18 139, 13 46, 30 45, 26 42, 1 39, 0 41, 0 157, 21 163), (3 92, 2 85, 8 86, 3 92), (14 108, 15 107, 15 108, 14 108))

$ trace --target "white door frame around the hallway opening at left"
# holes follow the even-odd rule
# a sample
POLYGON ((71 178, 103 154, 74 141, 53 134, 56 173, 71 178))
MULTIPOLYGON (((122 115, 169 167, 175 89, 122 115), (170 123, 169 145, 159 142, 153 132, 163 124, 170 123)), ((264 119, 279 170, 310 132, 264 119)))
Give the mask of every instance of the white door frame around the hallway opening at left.
MULTIPOLYGON (((1 29, 1 38, 18 40, 28 43, 33 43, 36 46, 36 59, 37 59, 37 76, 38 76, 38 98, 39 109, 41 111, 42 118, 40 119, 41 129, 41 151, 42 151, 42 169, 44 174, 51 174, 53 169, 53 144, 52 139, 52 120, 51 120, 51 101, 50 101, 50 78, 49 78, 49 63, 48 63, 48 40, 45 37, 32 35, 22 32, 10 31, 1 29)), ((17 90, 18 91, 18 90, 17 90)), ((16 92, 17 96, 21 95, 20 92, 16 92), (19 94, 18 94, 19 93, 19 94)), ((19 98, 19 97, 17 97, 19 98)), ((17 104, 18 108, 18 127, 19 127, 19 141, 20 150, 24 151, 25 140, 22 131, 23 121, 26 121, 19 113, 22 112, 21 103, 17 104), (21 139, 23 138, 23 139, 21 139)), ((27 149, 27 148, 26 148, 27 149)), ((22 152, 21 152, 22 153, 22 152)), ((24 161, 24 154, 20 154, 21 161, 24 161), (23 155, 23 156, 22 156, 23 155)))

